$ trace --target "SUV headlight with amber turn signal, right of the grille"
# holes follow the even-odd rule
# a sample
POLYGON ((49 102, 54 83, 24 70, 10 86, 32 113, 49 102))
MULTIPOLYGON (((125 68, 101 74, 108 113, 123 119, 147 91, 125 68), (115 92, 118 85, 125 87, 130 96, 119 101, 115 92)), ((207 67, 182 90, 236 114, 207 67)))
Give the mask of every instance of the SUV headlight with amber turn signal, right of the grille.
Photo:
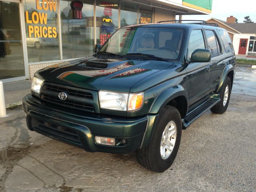
POLYGON ((100 108, 117 111, 137 111, 144 102, 144 93, 99 91, 100 108))

